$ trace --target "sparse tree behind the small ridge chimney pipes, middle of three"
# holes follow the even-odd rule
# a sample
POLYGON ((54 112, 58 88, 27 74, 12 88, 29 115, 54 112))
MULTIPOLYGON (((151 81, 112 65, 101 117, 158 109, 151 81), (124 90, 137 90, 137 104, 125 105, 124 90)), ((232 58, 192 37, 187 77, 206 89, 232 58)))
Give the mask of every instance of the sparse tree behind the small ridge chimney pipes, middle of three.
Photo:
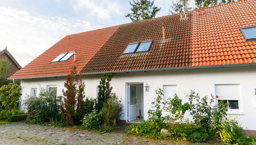
POLYGON ((172 6, 169 8, 169 14, 175 14, 180 12, 186 12, 192 9, 189 7, 190 0, 176 0, 176 3, 172 1, 172 6))

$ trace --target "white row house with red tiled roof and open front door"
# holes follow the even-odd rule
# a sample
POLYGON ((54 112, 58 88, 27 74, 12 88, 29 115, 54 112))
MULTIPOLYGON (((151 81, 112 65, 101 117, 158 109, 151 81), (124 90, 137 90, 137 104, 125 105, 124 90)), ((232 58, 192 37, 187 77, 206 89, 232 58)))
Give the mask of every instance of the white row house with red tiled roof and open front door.
POLYGON ((114 73, 121 120, 147 119, 158 88, 164 99, 177 93, 184 102, 195 89, 226 100, 228 116, 256 130, 255 9, 256 0, 242 0, 67 35, 9 79, 21 79, 22 99, 38 84, 61 95, 75 64, 86 96, 94 98, 102 74, 114 73))

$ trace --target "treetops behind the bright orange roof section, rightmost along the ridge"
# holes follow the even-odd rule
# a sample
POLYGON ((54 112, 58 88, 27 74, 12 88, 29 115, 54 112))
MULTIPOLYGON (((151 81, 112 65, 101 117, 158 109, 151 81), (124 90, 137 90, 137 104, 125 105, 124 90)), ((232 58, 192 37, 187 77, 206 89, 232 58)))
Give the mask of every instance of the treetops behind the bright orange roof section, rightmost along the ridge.
POLYGON ((230 3, 240 0, 195 0, 195 5, 197 8, 204 8, 209 6, 215 6, 223 3, 230 3))

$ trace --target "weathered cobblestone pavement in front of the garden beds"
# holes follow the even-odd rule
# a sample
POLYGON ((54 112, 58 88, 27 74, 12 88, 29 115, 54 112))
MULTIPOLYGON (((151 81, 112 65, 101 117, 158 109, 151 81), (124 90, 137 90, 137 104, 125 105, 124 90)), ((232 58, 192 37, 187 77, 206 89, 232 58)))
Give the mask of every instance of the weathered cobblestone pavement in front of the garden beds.
POLYGON ((0 125, 0 145, 192 145, 176 141, 161 141, 126 136, 124 127, 111 133, 82 131, 65 127, 14 122, 0 125))

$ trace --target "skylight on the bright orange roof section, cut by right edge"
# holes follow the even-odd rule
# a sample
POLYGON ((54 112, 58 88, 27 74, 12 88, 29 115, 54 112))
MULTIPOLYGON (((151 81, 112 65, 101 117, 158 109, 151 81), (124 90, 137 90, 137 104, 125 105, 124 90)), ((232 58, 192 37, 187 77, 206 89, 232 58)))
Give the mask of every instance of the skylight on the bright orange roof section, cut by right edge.
POLYGON ((256 40, 256 26, 243 27, 240 28, 240 31, 245 41, 256 40))

